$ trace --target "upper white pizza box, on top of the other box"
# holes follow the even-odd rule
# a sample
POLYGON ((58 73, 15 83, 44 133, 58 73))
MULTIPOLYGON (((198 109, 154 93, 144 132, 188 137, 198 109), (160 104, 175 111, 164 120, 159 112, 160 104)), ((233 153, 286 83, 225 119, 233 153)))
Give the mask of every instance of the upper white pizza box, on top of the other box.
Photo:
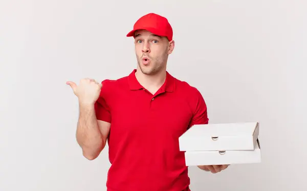
POLYGON ((258 122, 197 124, 179 137, 180 151, 254 150, 258 122))

